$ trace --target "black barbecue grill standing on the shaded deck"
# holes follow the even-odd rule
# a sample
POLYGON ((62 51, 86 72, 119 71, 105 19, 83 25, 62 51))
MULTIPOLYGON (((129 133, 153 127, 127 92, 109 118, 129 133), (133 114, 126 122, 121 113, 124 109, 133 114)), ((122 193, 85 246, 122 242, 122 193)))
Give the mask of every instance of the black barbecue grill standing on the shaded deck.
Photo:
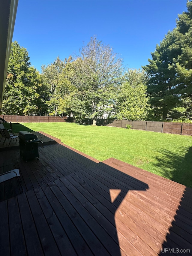
POLYGON ((20 156, 27 162, 28 159, 39 159, 39 143, 43 143, 38 136, 29 131, 19 131, 20 156))

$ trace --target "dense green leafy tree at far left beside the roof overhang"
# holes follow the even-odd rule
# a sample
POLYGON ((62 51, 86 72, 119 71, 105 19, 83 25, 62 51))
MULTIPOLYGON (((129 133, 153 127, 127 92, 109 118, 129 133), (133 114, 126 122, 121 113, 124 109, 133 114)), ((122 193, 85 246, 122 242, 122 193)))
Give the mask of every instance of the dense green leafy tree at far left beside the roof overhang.
POLYGON ((25 48, 15 41, 11 44, 1 113, 8 115, 32 115, 39 113, 43 93, 41 75, 29 62, 25 48), (41 93, 40 93, 41 91, 41 93))

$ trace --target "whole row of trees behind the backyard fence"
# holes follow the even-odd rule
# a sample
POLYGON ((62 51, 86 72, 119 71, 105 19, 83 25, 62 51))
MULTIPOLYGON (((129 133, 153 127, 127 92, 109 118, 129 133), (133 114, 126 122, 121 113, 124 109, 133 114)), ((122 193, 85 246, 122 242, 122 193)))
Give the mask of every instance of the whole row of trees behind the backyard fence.
POLYGON ((156 46, 142 69, 123 67, 122 58, 96 36, 79 56, 57 57, 31 66, 28 52, 12 43, 1 114, 71 113, 76 121, 98 118, 165 120, 192 118, 192 2, 176 28, 156 46))

